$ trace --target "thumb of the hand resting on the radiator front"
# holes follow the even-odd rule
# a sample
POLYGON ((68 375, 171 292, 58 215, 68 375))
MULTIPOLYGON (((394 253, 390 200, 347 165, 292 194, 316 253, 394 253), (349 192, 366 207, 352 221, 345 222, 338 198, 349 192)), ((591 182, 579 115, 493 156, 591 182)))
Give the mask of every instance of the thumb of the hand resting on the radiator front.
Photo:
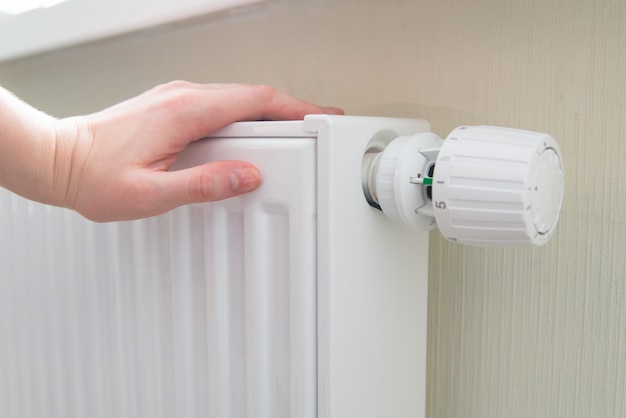
POLYGON ((215 161, 168 173, 165 193, 171 207, 212 202, 250 192, 261 185, 261 173, 243 161, 215 161))

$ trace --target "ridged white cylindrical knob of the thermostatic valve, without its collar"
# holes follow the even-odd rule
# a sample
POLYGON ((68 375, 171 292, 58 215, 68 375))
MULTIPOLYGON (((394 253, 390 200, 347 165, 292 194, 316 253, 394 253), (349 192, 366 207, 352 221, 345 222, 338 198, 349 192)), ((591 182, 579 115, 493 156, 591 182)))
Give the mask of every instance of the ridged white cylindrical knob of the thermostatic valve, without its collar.
POLYGON ((562 197, 561 152, 547 134, 460 127, 439 152, 433 211, 449 240, 544 244, 556 227, 562 197))

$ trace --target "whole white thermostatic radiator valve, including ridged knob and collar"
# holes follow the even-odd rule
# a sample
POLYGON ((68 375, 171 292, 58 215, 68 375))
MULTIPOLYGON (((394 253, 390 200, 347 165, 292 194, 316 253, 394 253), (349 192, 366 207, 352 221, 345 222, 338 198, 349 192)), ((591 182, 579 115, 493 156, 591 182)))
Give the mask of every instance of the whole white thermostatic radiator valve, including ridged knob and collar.
POLYGON ((563 199, 563 163, 550 135, 462 126, 445 141, 402 136, 364 158, 363 189, 392 220, 450 241, 481 246, 542 245, 563 199))

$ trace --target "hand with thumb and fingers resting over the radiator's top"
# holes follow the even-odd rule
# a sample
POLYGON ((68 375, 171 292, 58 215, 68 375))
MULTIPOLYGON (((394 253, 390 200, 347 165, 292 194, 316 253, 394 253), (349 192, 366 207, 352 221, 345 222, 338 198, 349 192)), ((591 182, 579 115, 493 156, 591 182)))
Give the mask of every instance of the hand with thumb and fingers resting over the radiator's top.
POLYGON ((268 86, 172 82, 99 113, 58 121, 52 201, 95 221, 137 219, 257 188, 258 170, 219 161, 169 172, 189 142, 235 121, 343 113, 268 86))

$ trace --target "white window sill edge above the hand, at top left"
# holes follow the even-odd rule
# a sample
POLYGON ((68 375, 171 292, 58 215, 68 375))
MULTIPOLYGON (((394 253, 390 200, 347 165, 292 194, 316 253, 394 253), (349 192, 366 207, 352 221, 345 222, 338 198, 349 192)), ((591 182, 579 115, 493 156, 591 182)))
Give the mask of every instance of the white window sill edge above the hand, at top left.
POLYGON ((265 0, 67 0, 0 14, 0 61, 94 41, 265 0))

